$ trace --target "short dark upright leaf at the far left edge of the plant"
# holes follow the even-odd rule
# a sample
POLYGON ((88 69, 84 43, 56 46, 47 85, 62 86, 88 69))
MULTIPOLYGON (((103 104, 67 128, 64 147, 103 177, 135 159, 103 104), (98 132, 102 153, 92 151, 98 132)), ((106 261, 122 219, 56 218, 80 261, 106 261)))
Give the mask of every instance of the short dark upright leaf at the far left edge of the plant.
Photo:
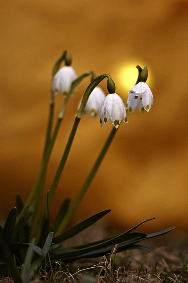
POLYGON ((3 227, 3 231, 2 231, 3 238, 9 242, 12 241, 12 236, 16 224, 16 214, 17 214, 17 209, 15 207, 8 214, 7 220, 3 227))

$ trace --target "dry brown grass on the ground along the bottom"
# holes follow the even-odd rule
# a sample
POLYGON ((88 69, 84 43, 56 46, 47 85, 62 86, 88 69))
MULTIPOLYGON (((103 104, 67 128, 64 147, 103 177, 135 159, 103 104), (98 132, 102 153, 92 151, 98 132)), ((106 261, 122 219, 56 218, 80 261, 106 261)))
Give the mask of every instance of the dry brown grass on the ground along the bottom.
MULTIPOLYGON (((69 264, 59 261, 47 263, 46 266, 43 264, 32 283, 188 282, 188 246, 149 243, 150 247, 154 245, 154 252, 133 250, 69 264)), ((0 282, 13 281, 8 276, 0 279, 0 282)))

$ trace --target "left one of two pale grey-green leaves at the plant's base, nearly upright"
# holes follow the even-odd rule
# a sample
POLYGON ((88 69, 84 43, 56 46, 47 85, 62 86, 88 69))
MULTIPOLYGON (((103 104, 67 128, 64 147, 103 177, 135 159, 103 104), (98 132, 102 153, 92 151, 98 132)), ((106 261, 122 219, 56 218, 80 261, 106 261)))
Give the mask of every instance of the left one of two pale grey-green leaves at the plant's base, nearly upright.
POLYGON ((28 283, 31 276, 33 275, 30 272, 30 264, 33 256, 34 242, 35 242, 35 238, 32 239, 31 244, 29 245, 29 248, 25 256, 24 267, 22 269, 22 275, 21 275, 23 283, 28 283))

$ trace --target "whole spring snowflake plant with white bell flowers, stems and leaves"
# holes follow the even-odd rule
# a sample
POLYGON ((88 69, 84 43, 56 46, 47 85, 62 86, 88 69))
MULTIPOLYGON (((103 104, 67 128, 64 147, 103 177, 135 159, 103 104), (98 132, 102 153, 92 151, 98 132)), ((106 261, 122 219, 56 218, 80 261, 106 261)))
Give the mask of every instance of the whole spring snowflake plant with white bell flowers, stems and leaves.
POLYGON ((97 242, 90 242, 82 246, 66 249, 63 247, 63 241, 75 236, 82 230, 94 224, 111 210, 107 209, 92 215, 71 229, 65 230, 70 218, 73 216, 76 208, 86 193, 91 180, 95 176, 95 173, 100 166, 121 121, 123 120, 127 123, 126 109, 128 109, 129 114, 131 114, 137 106, 141 112, 144 112, 145 110, 149 112, 153 105, 153 95, 146 83, 148 77, 147 66, 145 66, 144 69, 140 66, 136 67, 138 69, 138 79, 136 81, 136 85, 128 92, 128 100, 124 106, 123 100, 115 93, 115 84, 109 75, 104 74, 96 77, 92 71, 88 71, 77 77, 75 70, 71 67, 71 55, 67 50, 55 63, 52 74, 48 128, 38 178, 26 203, 24 204, 21 197, 17 195, 16 208, 13 208, 10 211, 4 227, 2 228, 0 226, 1 275, 9 272, 13 277, 14 282, 28 283, 30 278, 35 274, 36 270, 44 261, 61 260, 66 263, 81 258, 104 256, 111 252, 114 246, 116 246, 116 252, 128 249, 144 249, 152 251, 152 248, 139 245, 137 243, 141 240, 163 235, 174 228, 171 227, 149 235, 146 233, 134 232, 139 225, 154 219, 149 218, 121 235, 113 236, 97 242), (65 66, 60 67, 63 62, 65 66), (73 97, 78 84, 86 76, 91 76, 91 83, 87 87, 77 109, 70 137, 66 144, 65 151, 55 174, 50 191, 48 191, 46 196, 46 204, 43 208, 42 216, 40 217, 41 200, 50 154, 62 123, 69 98, 73 97), (104 79, 107 79, 107 90, 109 92, 107 96, 105 96, 102 89, 98 86, 98 84, 104 79), (55 96, 59 93, 63 95, 64 102, 55 128, 52 130, 55 96), (113 125, 112 131, 108 136, 102 151, 99 153, 89 175, 83 183, 83 186, 80 191, 78 191, 75 200, 71 203, 70 198, 68 197, 63 201, 55 222, 51 226, 49 212, 50 206, 76 134, 78 124, 82 114, 86 112, 89 112, 94 117, 96 117, 99 113, 101 126, 110 120, 113 125), (21 266, 21 271, 18 272, 18 267, 21 266))

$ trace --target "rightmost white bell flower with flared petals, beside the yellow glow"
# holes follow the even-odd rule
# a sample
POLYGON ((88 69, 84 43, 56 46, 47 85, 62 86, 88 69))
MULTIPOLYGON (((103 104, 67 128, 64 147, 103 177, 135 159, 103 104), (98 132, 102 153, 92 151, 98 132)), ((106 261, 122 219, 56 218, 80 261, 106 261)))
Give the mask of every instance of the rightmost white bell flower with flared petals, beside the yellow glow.
POLYGON ((125 108, 128 109, 128 114, 133 113, 137 106, 142 113, 144 113, 145 110, 147 112, 150 111, 154 98, 147 83, 139 82, 129 90, 128 94, 125 106, 125 108))

